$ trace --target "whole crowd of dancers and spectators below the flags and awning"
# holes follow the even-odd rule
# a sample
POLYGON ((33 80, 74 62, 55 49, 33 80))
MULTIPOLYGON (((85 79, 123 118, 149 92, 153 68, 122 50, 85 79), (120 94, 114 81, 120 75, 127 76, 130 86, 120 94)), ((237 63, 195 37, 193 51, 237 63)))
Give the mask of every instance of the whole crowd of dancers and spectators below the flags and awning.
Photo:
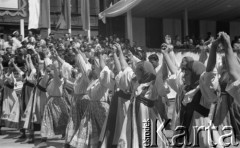
MULTIPOLYGON (((220 127, 232 126, 240 140, 240 60, 225 32, 202 42, 199 59, 183 57, 181 63, 169 36, 160 47, 161 60, 116 36, 89 43, 82 35, 42 39, 29 31, 22 39, 14 32, 0 47, 0 126, 18 129, 25 143, 34 143, 40 131, 36 148, 57 135, 65 148, 143 148, 149 144, 145 124, 168 118, 174 135, 182 132, 175 131, 178 126, 188 133, 174 146, 193 141, 193 127, 209 124, 219 127, 210 136, 219 147, 216 139, 225 132, 220 127), (218 50, 224 51, 221 64, 218 50), (170 89, 177 92, 172 117, 170 89)), ((207 131, 198 137, 199 147, 211 147, 207 131)), ((168 147, 159 138, 156 147, 168 147)))

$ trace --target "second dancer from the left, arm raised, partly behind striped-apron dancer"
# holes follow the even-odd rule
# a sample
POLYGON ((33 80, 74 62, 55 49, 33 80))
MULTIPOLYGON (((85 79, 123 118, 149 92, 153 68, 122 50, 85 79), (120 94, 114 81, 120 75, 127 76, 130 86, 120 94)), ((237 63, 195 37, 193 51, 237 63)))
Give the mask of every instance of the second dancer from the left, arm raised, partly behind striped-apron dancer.
MULTIPOLYGON (((21 119, 20 119, 20 132, 21 135, 18 137, 19 139, 25 139, 26 134, 25 134, 25 129, 24 124, 27 120, 29 120, 28 116, 26 116, 27 112, 29 111, 27 109, 27 105, 29 103, 29 100, 32 100, 31 97, 33 96, 34 93, 34 88, 36 84, 36 68, 33 64, 32 61, 32 56, 30 54, 26 55, 26 66, 27 66, 27 71, 25 73, 25 82, 23 84, 22 88, 22 96, 20 99, 20 113, 21 113, 21 119)), ((29 130, 29 137, 28 139, 23 142, 23 143, 33 143, 34 142, 34 132, 32 129, 29 130)))

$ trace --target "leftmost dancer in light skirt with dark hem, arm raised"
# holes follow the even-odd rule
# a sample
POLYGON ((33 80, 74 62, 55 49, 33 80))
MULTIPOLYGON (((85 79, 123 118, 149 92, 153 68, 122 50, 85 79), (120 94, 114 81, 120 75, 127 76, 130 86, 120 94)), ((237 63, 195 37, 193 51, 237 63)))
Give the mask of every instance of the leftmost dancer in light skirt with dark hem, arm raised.
POLYGON ((3 108, 1 114, 2 124, 9 128, 18 128, 20 118, 19 98, 14 90, 16 85, 16 78, 13 73, 14 69, 16 69, 20 75, 22 74, 22 71, 14 63, 14 59, 11 59, 8 73, 5 74, 3 78, 5 80, 3 81, 3 108))

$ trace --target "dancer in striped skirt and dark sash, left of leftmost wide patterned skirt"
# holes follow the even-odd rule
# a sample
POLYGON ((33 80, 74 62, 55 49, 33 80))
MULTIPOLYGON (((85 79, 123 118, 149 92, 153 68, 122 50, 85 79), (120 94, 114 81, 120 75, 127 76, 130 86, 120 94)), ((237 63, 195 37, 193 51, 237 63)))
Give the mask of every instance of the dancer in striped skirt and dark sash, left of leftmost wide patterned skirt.
MULTIPOLYGON (((23 128, 29 130, 32 141, 34 141, 34 131, 40 130, 43 111, 48 98, 46 87, 50 79, 47 71, 45 71, 44 62, 41 60, 40 55, 35 50, 33 52, 38 63, 36 65, 36 85, 30 95, 23 119, 23 128)), ((31 140, 27 143, 32 143, 31 140)))

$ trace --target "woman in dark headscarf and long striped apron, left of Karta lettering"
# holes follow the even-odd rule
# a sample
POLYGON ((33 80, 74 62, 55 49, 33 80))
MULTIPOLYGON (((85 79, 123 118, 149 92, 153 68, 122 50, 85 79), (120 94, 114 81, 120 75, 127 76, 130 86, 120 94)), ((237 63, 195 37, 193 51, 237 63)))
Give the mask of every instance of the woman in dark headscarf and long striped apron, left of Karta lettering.
MULTIPOLYGON (((136 77, 132 79, 133 90, 121 134, 118 140, 119 148, 143 148, 151 146, 145 131, 149 124, 161 124, 163 121, 155 107, 158 96, 165 95, 165 88, 156 81, 156 72, 152 64, 147 61, 138 62, 135 70, 136 77)), ((151 137, 155 139, 156 137, 151 137)), ((157 138, 159 140, 159 137, 157 138)), ((164 142, 158 147, 165 147, 164 142)))

